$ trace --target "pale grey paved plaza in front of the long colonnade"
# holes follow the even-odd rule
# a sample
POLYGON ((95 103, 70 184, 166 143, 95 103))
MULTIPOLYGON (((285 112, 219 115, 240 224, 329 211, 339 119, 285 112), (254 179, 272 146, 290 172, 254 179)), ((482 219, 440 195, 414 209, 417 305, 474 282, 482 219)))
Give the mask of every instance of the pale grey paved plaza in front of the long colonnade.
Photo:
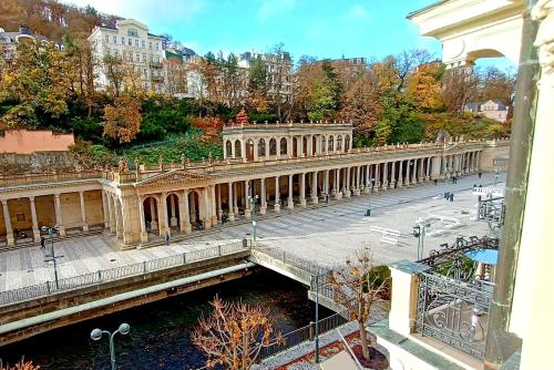
MULTIPOLYGON (((503 181, 504 175, 500 181, 503 181)), ((447 230, 444 223, 432 222, 429 233, 443 229, 440 236, 425 237, 427 256, 441 243, 452 243, 458 236, 483 236, 489 226, 473 220, 476 197, 471 194, 473 184, 492 184, 494 174, 460 178, 456 184, 433 183, 371 195, 372 214, 366 217, 368 196, 352 197, 346 202, 331 203, 307 210, 296 209, 269 215, 258 222, 260 247, 279 248, 286 254, 308 258, 331 266, 343 261, 356 250, 370 247, 377 264, 416 259, 418 239, 412 226, 416 219, 428 216, 455 218, 459 228, 447 230), (453 192, 454 202, 447 202, 442 194, 453 192), (382 227, 400 234, 398 245, 381 241, 382 227)), ((499 184, 503 186, 504 184, 499 184)), ((197 250, 215 245, 249 238, 252 225, 242 223, 197 237, 142 249, 119 250, 112 247, 109 236, 88 236, 55 244, 57 255, 63 256, 59 265, 59 277, 94 273, 119 266, 197 250)), ((48 250, 48 249, 47 249, 48 250)), ((0 254, 0 291, 53 280, 51 263, 45 263, 45 253, 38 247, 17 249, 0 254)))

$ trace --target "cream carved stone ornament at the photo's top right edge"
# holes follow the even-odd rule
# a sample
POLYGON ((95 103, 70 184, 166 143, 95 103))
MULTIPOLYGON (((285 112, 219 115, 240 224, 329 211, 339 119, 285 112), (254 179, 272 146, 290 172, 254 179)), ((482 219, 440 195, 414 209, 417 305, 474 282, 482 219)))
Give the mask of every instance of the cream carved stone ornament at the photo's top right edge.
POLYGON ((554 0, 538 0, 531 18, 540 21, 534 45, 538 48, 538 62, 543 73, 554 73, 554 0))

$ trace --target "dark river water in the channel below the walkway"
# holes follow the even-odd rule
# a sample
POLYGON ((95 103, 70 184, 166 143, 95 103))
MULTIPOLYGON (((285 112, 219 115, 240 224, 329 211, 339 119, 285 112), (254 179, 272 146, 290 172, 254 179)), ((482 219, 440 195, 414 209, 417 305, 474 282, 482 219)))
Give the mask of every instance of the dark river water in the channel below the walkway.
MULTIPOLYGON (((110 369, 107 337, 93 341, 90 332, 94 328, 112 331, 127 322, 131 332, 115 336, 117 369, 197 369, 203 367, 204 357, 188 333, 202 314, 211 312, 208 302, 216 294, 223 299, 269 307, 283 333, 314 320, 315 304, 308 300, 307 288, 264 270, 1 347, 0 359, 14 363, 24 356, 45 370, 110 369)), ((320 317, 332 314, 322 307, 319 311, 320 317)))

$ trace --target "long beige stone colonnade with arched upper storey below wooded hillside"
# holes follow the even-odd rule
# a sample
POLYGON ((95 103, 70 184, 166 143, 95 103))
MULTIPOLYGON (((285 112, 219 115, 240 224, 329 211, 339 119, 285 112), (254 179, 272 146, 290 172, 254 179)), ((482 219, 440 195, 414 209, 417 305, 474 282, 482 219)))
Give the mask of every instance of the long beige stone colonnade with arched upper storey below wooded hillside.
POLYGON ((345 123, 232 125, 224 160, 0 178, 0 246, 103 229, 122 245, 209 229, 222 219, 340 202, 370 191, 493 171, 506 141, 352 148, 345 123))

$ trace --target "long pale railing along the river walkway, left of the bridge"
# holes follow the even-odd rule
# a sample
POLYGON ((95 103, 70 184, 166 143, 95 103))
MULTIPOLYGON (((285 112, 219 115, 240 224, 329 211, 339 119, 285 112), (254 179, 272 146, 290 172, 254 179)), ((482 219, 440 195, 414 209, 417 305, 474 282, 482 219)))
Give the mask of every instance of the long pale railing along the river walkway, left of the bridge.
POLYGON ((20 301, 51 296, 59 292, 70 291, 78 288, 98 286, 109 281, 116 281, 132 276, 160 271, 167 268, 192 265, 197 261, 234 255, 249 250, 249 243, 237 241, 216 247, 185 251, 178 255, 167 256, 158 259, 145 260, 137 264, 114 267, 106 270, 98 270, 84 275, 78 275, 55 281, 0 291, 0 307, 13 305, 20 301))

